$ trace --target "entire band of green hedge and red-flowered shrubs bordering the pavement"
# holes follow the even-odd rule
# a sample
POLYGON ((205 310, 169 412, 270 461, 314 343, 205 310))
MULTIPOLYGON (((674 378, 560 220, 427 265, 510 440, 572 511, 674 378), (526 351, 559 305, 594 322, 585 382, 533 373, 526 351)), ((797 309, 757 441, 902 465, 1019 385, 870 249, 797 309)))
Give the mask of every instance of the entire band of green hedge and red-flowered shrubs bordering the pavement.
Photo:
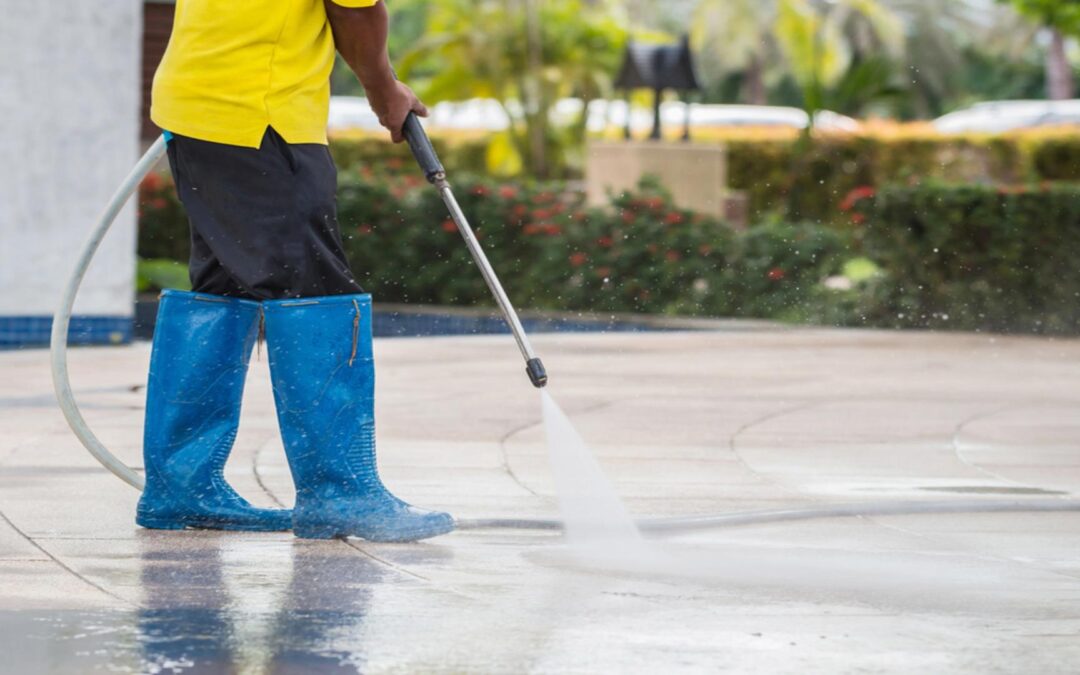
MULTIPOLYGON (((415 173, 339 179, 347 252, 380 300, 489 305, 434 190, 415 173)), ((1080 334, 1080 186, 923 183, 843 195, 848 222, 734 232, 658 186, 597 208, 566 184, 463 177, 456 193, 524 308, 755 316, 883 327, 1080 334), (864 256, 866 258, 864 258, 864 256)), ((187 258, 171 181, 140 190, 139 255, 187 258)))

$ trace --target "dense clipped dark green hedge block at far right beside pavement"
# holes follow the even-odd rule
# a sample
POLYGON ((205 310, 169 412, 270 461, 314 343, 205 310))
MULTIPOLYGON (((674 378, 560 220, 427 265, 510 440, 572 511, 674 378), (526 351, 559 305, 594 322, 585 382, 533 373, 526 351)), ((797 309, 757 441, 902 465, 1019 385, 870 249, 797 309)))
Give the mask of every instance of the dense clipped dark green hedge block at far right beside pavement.
POLYGON ((892 187, 853 213, 885 270, 866 323, 1080 333, 1080 186, 892 187))

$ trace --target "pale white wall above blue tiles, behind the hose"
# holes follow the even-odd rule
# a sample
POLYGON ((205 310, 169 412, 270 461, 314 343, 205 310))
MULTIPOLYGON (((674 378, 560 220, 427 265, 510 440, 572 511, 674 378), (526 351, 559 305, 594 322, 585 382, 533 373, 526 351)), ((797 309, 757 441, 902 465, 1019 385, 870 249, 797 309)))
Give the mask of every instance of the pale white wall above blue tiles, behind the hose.
MULTIPOLYGON (((138 152, 140 0, 0 8, 0 319, 52 314, 89 229, 138 152)), ((77 314, 130 316, 135 210, 117 219, 77 314)))

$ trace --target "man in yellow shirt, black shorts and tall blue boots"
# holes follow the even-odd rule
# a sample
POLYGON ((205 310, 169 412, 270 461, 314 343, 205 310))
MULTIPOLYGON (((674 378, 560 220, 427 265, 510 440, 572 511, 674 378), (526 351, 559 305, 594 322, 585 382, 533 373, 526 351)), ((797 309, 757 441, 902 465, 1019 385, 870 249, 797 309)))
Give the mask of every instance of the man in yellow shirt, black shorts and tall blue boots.
POLYGON ((191 225, 192 292, 162 295, 150 359, 143 527, 411 541, 454 528, 382 485, 372 306, 349 269, 326 147, 335 45, 401 141, 427 114, 387 56, 379 0, 178 0, 150 116, 191 225), (256 509, 222 475, 264 330, 296 483, 256 509))

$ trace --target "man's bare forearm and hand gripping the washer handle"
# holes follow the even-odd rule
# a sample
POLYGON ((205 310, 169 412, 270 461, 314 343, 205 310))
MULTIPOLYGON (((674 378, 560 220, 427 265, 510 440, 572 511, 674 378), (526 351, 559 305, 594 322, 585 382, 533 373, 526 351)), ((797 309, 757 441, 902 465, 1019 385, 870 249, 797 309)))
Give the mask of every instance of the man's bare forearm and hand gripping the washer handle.
POLYGON ((334 0, 323 2, 337 51, 360 79, 379 123, 390 130, 394 143, 401 143, 402 126, 409 111, 427 117, 428 108, 413 90, 397 81, 390 67, 387 54, 390 17, 386 5, 381 0, 366 8, 346 8, 334 0))

